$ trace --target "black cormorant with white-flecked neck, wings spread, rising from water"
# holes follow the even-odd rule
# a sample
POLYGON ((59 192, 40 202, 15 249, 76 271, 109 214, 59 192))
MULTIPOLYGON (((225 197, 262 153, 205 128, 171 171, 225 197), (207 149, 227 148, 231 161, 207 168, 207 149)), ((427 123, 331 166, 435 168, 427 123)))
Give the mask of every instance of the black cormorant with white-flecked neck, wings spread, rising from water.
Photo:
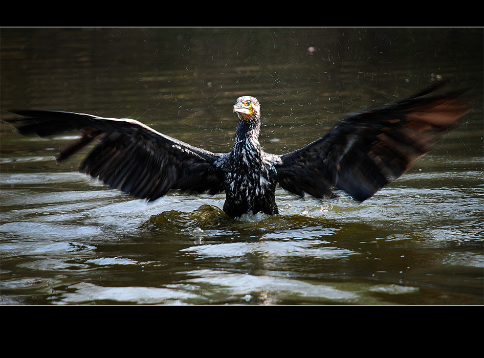
POLYGON ((371 197, 429 152, 439 135, 469 110, 454 91, 431 93, 438 83, 398 102, 346 115, 323 137, 283 155, 262 150, 260 105, 250 96, 233 106, 239 123, 229 153, 212 153, 170 138, 131 119, 102 118, 55 110, 15 110, 20 133, 51 136, 80 130, 63 149, 64 160, 93 140, 99 143, 81 163, 81 172, 136 198, 155 200, 170 189, 215 194, 225 191, 224 211, 233 218, 252 211, 277 214, 276 185, 317 198, 333 197, 332 187, 356 200, 371 197))

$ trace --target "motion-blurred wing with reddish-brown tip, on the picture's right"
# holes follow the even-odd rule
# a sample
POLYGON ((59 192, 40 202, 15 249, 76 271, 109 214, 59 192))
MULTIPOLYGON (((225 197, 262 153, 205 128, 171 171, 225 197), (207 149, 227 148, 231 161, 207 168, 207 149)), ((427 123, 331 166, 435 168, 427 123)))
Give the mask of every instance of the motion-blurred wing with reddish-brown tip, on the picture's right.
POLYGON ((325 136, 280 156, 282 188, 304 196, 334 196, 336 186, 363 202, 405 173, 432 149, 442 133, 469 110, 456 91, 411 98, 343 118, 325 136))

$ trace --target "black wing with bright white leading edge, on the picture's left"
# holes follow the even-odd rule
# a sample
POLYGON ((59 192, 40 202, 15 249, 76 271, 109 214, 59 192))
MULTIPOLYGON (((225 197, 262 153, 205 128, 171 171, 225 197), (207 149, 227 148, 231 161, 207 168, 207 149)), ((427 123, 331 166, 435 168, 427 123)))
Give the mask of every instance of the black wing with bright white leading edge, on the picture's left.
POLYGON ((170 189, 211 194, 223 190, 223 174, 215 165, 222 154, 190 146, 141 122, 53 110, 12 113, 22 117, 6 121, 24 135, 80 130, 82 137, 62 150, 57 160, 98 139, 79 170, 134 197, 155 200, 170 189))

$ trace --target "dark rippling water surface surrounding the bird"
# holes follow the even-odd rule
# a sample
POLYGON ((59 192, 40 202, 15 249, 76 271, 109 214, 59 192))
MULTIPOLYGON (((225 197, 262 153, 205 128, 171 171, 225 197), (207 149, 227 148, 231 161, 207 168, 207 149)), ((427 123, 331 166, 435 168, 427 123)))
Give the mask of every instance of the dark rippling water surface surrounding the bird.
POLYGON ((77 172, 76 133, 1 124, 2 304, 483 304, 482 29, 13 29, 1 35, 1 114, 139 119, 227 152, 232 105, 262 106, 285 153, 344 113, 439 78, 476 106, 363 204, 277 191, 280 214, 238 221, 225 194, 133 200, 77 172), (309 47, 315 52, 310 53, 309 47))

